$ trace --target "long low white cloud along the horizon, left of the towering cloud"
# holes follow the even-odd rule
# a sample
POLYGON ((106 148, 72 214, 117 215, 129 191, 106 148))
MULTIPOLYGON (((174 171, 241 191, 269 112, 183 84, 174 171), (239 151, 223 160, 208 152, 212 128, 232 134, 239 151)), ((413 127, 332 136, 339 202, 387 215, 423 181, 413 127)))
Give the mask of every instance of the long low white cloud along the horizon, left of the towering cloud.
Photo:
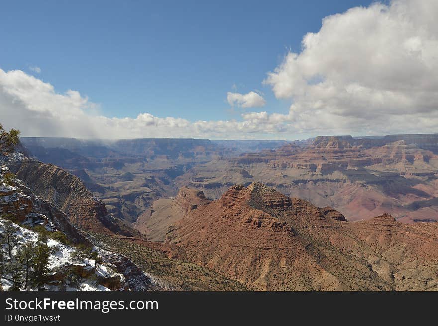
POLYGON ((23 136, 259 138, 282 128, 281 123, 271 124, 249 115, 243 121, 191 122, 149 113, 136 118, 109 118, 96 111, 98 105, 77 91, 60 94, 51 84, 23 71, 0 69, 0 122, 6 128, 20 129, 23 136))

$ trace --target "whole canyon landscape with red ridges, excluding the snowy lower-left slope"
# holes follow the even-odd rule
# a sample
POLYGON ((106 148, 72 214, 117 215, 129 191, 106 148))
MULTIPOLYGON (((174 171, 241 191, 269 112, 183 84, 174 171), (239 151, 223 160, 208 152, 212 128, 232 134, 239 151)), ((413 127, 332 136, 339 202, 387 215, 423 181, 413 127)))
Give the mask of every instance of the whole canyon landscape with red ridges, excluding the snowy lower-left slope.
POLYGON ((0 209, 92 246, 118 287, 438 289, 438 135, 21 142, 0 209))

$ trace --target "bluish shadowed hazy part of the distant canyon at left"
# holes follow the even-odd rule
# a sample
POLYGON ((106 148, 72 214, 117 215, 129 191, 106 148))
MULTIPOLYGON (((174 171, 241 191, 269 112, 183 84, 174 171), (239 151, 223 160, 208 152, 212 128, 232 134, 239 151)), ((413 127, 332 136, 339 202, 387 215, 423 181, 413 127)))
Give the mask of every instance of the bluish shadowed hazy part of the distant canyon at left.
POLYGON ((29 155, 78 176, 106 204, 109 213, 128 223, 135 222, 154 200, 175 196, 178 192, 175 178, 194 165, 287 143, 27 137, 22 137, 21 142, 29 155))

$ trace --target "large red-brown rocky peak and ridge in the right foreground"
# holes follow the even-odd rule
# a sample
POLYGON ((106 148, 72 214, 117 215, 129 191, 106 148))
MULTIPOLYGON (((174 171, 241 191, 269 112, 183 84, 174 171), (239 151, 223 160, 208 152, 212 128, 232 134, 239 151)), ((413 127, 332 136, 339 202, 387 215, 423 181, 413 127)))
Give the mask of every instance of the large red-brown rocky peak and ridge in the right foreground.
POLYGON ((252 183, 189 211, 168 241, 257 290, 425 290, 438 289, 428 281, 438 272, 437 231, 436 223, 414 227, 389 215, 350 223, 252 183))

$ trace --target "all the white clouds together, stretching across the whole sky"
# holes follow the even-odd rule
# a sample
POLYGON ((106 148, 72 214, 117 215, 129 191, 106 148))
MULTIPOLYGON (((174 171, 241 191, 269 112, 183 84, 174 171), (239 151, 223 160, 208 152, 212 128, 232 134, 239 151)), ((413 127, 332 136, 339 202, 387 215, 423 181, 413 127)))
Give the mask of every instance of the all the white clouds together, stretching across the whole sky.
MULTIPOLYGON (((109 118, 79 92, 63 94, 22 71, 0 69, 0 121, 27 136, 300 138, 301 135, 437 132, 438 1, 393 0, 325 17, 263 81, 288 114, 245 112, 231 121, 109 118)), ((255 92, 227 94, 242 108, 255 92)), ((301 137, 303 138, 303 137, 301 137)))

